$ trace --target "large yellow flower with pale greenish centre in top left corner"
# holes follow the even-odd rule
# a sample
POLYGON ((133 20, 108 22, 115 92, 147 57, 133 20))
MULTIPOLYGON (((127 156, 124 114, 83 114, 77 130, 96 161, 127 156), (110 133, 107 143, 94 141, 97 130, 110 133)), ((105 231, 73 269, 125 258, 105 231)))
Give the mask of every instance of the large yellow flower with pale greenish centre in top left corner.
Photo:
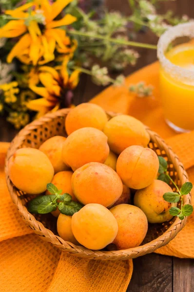
POLYGON ((72 24, 77 18, 66 14, 54 20, 71 1, 56 0, 51 5, 48 0, 34 0, 15 10, 6 10, 5 14, 19 19, 10 20, 0 28, 0 37, 21 36, 7 56, 8 63, 17 57, 25 64, 45 64, 55 58, 55 48, 58 53, 72 54, 77 42, 71 42, 65 30, 59 27, 72 24))

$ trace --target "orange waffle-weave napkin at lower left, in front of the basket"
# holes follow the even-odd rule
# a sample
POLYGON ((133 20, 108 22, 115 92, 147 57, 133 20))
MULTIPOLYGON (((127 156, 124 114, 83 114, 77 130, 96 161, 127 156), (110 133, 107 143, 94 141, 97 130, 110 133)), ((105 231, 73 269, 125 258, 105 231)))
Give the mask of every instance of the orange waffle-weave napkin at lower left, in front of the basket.
POLYGON ((62 253, 25 225, 9 196, 0 143, 0 292, 125 292, 132 260, 85 260, 62 253))

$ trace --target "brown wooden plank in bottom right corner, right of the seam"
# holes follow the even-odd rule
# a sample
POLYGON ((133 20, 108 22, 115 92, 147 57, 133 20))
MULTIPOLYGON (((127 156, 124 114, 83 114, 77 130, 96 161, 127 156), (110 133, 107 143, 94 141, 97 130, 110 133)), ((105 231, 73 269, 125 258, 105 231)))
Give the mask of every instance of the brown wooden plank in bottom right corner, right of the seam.
POLYGON ((194 291, 194 259, 173 258, 173 292, 194 291))

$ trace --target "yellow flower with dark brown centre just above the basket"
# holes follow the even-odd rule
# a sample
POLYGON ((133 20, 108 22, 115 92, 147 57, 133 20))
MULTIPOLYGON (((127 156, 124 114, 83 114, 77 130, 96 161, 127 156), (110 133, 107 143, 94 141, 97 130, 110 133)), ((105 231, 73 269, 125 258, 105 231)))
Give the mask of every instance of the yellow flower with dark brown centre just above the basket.
MULTIPOLYGON (((42 98, 31 100, 27 103, 27 108, 38 111, 37 118, 48 111, 58 110, 60 103, 65 101, 65 91, 73 89, 78 85, 79 70, 68 73, 67 64, 69 57, 65 56, 61 66, 51 68, 42 66, 39 68, 39 80, 44 87, 38 87, 29 81, 29 87, 42 98)), ((64 102, 66 107, 70 106, 64 102)))

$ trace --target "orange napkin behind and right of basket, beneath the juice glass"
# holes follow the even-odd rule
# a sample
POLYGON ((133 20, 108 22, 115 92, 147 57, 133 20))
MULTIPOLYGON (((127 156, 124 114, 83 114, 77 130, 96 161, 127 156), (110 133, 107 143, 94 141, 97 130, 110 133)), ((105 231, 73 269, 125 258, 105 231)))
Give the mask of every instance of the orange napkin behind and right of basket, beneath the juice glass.
MULTIPOLYGON (((105 110, 129 114, 156 131, 166 142, 172 146, 179 156, 194 184, 194 131, 177 135, 167 126, 162 114, 159 98, 159 63, 155 62, 126 78, 125 86, 109 87, 94 97, 91 102, 96 103, 105 110), (128 91, 131 84, 144 81, 146 85, 154 87, 153 96, 139 98, 128 91), (170 138, 171 137, 171 138, 170 138), (169 138, 169 139, 167 139, 169 138)), ((156 253, 194 258, 194 214, 178 235, 166 246, 158 249, 156 253)))

